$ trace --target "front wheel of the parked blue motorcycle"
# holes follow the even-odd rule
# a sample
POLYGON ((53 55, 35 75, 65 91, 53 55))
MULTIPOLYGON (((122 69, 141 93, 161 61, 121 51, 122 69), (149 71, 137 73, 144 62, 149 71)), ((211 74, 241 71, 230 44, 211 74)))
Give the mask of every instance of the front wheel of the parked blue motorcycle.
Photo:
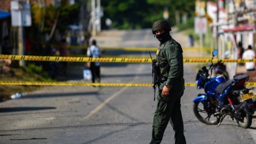
POLYGON ((206 102, 205 105, 206 106, 201 102, 194 102, 193 111, 196 118, 207 125, 218 124, 220 118, 218 116, 214 116, 214 113, 216 113, 215 109, 211 107, 209 102, 206 102))

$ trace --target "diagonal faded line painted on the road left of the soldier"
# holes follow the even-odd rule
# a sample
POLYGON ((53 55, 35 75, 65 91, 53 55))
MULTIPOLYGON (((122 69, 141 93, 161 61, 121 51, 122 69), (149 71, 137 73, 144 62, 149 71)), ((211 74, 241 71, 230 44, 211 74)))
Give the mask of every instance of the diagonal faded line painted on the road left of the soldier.
POLYGON ((104 102, 102 102, 97 108, 93 109, 86 117, 84 117, 83 119, 88 119, 90 118, 93 114, 97 113, 98 111, 100 111, 110 100, 114 99, 115 97, 117 97, 117 95, 121 94, 122 92, 124 92, 126 89, 128 89, 128 87, 123 87, 123 89, 119 90, 118 92, 116 92, 115 94, 111 95, 111 97, 109 97, 108 99, 106 99, 104 102))

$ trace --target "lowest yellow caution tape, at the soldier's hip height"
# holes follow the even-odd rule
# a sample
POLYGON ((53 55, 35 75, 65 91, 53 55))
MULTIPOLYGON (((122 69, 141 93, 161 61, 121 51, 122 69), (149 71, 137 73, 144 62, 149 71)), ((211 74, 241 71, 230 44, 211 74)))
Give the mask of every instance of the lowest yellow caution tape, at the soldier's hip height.
MULTIPOLYGON (((83 83, 83 82, 28 82, 28 81, 0 81, 0 85, 81 85, 81 86, 153 86, 149 83, 83 83)), ((185 83, 185 86, 196 86, 196 83, 185 83)), ((256 83, 246 83, 253 87, 256 83)))

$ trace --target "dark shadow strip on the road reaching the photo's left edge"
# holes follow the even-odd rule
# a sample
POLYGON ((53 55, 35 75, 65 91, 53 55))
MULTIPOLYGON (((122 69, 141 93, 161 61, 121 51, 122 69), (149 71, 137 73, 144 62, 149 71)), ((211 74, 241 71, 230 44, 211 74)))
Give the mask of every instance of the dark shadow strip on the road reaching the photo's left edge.
POLYGON ((28 111, 28 110, 46 110, 56 109, 56 107, 12 107, 12 108, 0 108, 0 113, 9 113, 16 111, 28 111))

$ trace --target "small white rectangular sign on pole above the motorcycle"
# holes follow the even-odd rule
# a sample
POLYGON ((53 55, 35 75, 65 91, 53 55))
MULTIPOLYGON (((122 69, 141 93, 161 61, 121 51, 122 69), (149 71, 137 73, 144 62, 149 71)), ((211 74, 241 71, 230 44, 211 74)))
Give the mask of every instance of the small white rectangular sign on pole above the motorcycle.
POLYGON ((207 32, 207 19, 205 17, 195 18, 195 33, 206 34, 207 32))

